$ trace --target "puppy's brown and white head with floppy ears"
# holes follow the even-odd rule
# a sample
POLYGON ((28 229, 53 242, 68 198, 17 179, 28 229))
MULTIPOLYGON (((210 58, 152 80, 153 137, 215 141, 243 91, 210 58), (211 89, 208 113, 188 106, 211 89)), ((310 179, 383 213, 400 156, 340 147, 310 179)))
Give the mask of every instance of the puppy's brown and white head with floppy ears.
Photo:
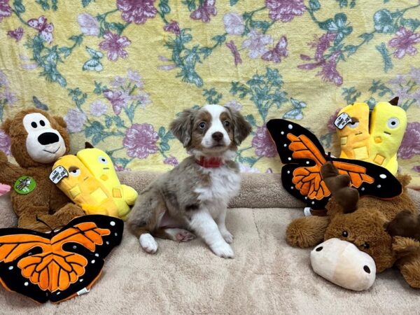
POLYGON ((220 155, 228 150, 235 151, 251 132, 251 125, 237 111, 206 105, 183 111, 170 129, 188 150, 220 155))

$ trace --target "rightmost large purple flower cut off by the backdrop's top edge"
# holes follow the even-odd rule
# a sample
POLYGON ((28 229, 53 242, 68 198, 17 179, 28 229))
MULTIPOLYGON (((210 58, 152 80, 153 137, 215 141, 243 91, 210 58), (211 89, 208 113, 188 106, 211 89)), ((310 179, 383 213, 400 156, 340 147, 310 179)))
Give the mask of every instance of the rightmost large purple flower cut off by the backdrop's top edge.
POLYGON ((289 22, 306 10, 303 0, 265 0, 269 18, 273 21, 289 22))

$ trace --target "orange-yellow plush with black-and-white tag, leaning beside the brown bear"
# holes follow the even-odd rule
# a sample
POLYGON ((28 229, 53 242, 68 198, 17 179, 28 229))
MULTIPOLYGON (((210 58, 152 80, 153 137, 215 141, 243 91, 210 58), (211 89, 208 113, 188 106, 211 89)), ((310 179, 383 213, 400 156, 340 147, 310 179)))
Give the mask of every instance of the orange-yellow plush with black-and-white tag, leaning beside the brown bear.
POLYGON ((75 155, 64 155, 52 167, 50 179, 86 214, 118 217, 118 208, 109 191, 75 155))

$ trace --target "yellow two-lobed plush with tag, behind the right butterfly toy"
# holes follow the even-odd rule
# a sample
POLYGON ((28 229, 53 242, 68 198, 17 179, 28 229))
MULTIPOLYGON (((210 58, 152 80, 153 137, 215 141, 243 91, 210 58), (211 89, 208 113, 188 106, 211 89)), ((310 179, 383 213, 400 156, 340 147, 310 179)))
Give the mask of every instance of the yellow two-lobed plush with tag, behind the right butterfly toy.
POLYGON ((340 158, 364 160, 398 172, 397 151, 407 127, 407 114, 398 97, 379 102, 370 114, 366 103, 344 107, 335 120, 342 152, 340 158))

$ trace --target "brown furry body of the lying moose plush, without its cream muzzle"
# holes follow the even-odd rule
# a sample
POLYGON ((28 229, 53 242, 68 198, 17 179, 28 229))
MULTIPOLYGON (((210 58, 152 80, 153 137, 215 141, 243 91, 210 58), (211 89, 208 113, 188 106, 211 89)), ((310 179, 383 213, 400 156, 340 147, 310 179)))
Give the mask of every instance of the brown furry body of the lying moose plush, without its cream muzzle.
POLYGON ((358 200, 357 190, 348 186, 346 175, 339 175, 331 162, 323 165, 321 174, 332 193, 328 216, 297 218, 288 225, 288 244, 313 247, 332 238, 349 241, 373 258, 377 272, 396 265, 409 286, 420 288, 419 220, 406 191, 409 176, 398 176, 404 187, 399 197, 358 200))

